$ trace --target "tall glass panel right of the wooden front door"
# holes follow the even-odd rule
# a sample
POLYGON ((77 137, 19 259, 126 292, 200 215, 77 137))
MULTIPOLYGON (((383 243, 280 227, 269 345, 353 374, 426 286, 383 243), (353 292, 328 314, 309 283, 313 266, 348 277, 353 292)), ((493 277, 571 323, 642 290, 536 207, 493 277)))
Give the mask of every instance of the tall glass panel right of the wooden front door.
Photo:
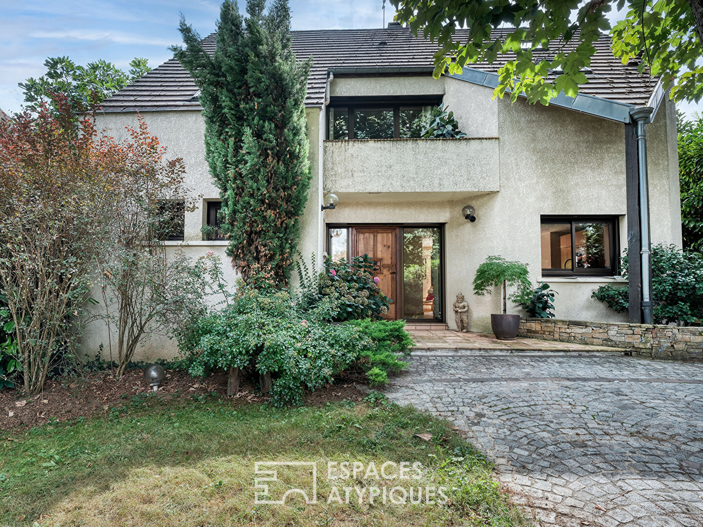
POLYGON ((441 230, 403 227, 403 318, 442 320, 441 230))

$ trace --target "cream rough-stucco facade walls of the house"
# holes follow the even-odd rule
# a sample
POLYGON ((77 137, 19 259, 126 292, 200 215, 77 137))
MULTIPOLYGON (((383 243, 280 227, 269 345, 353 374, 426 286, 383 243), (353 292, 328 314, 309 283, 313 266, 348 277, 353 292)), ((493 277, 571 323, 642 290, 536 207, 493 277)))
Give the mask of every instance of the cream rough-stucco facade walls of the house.
MULTIPOLYGON (((451 304, 458 292, 470 304, 470 329, 489 331, 498 295, 475 297, 475 271, 489 255, 529 265, 530 278, 550 283, 559 296, 558 318, 618 321, 618 315, 591 299, 602 283, 621 278, 551 278, 541 275, 541 216, 617 216, 619 248, 627 245, 625 141, 622 123, 557 108, 531 106, 520 99, 493 100, 492 90, 460 79, 441 77, 340 77, 330 97, 443 96, 453 110, 463 140, 325 141, 325 107, 307 108, 311 186, 301 220, 299 250, 304 256, 325 251, 328 224, 424 224, 444 228, 444 313, 453 327, 451 304), (321 211, 323 195, 334 192, 340 204, 321 211), (476 209, 477 220, 460 214, 476 209)), ((186 213, 183 245, 193 255, 214 250, 224 256, 223 242, 204 242, 200 228, 205 202, 219 200, 205 162, 204 122, 198 111, 145 112, 150 131, 186 164, 188 185, 202 195, 198 210, 186 213)), ((116 138, 136 114, 105 113, 98 126, 116 138)), ((673 103, 662 103, 647 125, 652 243, 681 245, 676 115, 673 103)), ((617 230, 617 229, 616 229, 617 230)), ((225 266, 228 268, 228 265, 225 266)), ((228 280, 235 280, 228 269, 228 280)), ((513 306, 512 313, 524 313, 513 306)), ((93 330, 89 346, 105 333, 93 330)), ((169 356, 171 341, 150 342, 141 358, 169 356)))

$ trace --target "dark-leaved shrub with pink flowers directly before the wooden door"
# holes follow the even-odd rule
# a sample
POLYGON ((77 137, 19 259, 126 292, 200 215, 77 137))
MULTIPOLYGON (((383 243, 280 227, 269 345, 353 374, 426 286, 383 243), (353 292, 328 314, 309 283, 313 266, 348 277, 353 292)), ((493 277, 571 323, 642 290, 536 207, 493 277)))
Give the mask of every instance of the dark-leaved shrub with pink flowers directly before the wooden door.
POLYGON ((352 261, 325 258, 318 278, 317 299, 327 298, 337 304, 332 320, 378 319, 388 313, 388 297, 378 287, 373 275, 373 261, 364 254, 352 261))

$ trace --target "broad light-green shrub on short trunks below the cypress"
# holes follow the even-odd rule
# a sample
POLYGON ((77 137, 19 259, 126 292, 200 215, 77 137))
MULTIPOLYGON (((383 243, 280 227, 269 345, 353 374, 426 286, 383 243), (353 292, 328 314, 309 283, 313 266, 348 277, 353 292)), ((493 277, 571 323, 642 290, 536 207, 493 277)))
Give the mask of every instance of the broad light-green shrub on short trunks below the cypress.
MULTIPOLYGON (((251 277, 252 275, 250 275, 251 277)), ((371 345, 354 326, 328 322, 325 308, 303 309, 285 289, 257 289, 240 280, 219 312, 196 320, 179 339, 189 371, 252 368, 271 373, 271 403, 302 403, 303 389, 333 382, 371 345)))

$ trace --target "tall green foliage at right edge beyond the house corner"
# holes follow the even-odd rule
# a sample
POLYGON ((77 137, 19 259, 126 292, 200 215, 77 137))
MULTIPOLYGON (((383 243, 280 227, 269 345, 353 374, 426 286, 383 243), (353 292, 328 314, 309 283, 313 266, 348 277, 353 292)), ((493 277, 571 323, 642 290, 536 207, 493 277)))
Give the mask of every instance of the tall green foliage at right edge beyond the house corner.
POLYGON ((677 117, 683 247, 703 252, 703 117, 677 117))

